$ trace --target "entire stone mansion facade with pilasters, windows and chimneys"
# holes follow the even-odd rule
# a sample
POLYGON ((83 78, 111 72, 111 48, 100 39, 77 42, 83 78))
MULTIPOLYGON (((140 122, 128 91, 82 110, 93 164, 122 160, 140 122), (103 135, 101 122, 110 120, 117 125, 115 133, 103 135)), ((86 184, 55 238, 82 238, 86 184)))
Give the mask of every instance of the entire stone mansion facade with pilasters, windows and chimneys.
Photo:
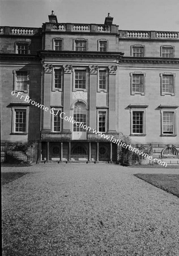
POLYGON ((121 30, 110 15, 58 23, 52 11, 41 28, 0 27, 0 40, 3 142, 36 139, 39 160, 116 162, 110 138, 123 134, 179 163, 179 32, 121 30))

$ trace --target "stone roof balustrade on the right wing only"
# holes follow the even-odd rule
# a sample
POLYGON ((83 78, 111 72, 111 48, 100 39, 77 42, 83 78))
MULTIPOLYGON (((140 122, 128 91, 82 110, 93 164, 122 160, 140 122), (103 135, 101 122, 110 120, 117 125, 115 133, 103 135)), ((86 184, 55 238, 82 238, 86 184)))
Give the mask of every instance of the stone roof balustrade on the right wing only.
POLYGON ((179 32, 120 30, 120 38, 129 39, 179 39, 179 32))

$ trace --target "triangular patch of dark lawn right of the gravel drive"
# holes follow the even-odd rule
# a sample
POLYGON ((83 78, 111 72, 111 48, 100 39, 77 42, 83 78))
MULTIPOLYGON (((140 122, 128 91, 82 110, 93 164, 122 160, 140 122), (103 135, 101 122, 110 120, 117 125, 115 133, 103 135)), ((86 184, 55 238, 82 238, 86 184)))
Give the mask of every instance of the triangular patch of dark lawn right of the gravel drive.
POLYGON ((179 174, 134 174, 157 188, 179 197, 179 174))

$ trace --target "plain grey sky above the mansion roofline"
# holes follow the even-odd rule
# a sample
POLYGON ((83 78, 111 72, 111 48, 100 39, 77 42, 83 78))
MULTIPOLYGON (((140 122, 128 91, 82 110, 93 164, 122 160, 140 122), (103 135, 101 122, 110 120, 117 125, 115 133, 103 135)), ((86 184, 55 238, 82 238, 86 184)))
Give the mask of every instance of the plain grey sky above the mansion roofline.
POLYGON ((179 0, 0 0, 0 26, 41 27, 51 11, 59 23, 104 24, 120 30, 179 31, 179 0))

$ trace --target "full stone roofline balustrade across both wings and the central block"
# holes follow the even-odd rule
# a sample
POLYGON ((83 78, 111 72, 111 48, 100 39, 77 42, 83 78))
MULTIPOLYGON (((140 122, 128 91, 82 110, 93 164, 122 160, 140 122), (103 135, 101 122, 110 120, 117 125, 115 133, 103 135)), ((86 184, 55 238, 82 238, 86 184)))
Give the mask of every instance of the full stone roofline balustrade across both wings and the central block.
MULTIPOLYGON (((171 39, 179 40, 179 32, 173 31, 135 31, 118 30, 118 26, 104 24, 72 24, 72 23, 45 23, 43 31, 71 31, 71 32, 96 32, 120 34, 125 39, 171 39)), ((0 27, 0 35, 36 35, 41 28, 29 27, 0 27)))

